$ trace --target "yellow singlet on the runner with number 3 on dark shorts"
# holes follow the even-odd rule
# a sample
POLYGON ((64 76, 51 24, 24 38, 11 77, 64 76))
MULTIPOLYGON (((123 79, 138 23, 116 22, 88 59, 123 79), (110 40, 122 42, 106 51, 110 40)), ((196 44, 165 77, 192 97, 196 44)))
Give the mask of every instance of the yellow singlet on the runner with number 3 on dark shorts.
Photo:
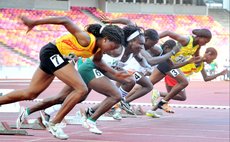
POLYGON ((182 46, 176 55, 171 56, 171 60, 174 63, 183 63, 191 58, 199 47, 199 45, 193 46, 193 37, 189 36, 189 43, 186 46, 182 46))

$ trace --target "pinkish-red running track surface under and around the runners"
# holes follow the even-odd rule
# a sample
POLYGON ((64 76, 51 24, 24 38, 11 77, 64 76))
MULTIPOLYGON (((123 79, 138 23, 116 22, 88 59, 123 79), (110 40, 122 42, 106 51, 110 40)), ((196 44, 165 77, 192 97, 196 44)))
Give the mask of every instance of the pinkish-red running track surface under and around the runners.
MULTIPOLYGON (((0 83, 0 89, 20 89, 28 83, 10 82, 0 83)), ((53 83, 39 98, 45 98, 58 93, 62 83, 53 83)), ((155 88, 164 91, 163 82, 155 88)), ((186 102, 172 101, 173 104, 190 105, 218 105, 229 107, 229 82, 190 82, 187 87, 188 100, 186 102)), ((100 101, 104 97, 92 92, 88 101, 100 101)), ((150 94, 136 100, 137 103, 149 103, 150 94)), ((33 105, 34 102, 20 102, 22 106, 33 105)), ((72 115, 82 105, 70 112, 72 115)), ((149 109, 147 106, 144 109, 149 109)), ((200 109, 174 108, 175 114, 163 112, 162 118, 153 119, 147 116, 124 118, 121 121, 98 121, 98 128, 102 135, 90 133, 80 125, 67 125, 64 131, 70 136, 69 142, 229 142, 229 109, 200 109)), ((0 121, 14 124, 17 113, 1 113, 0 121)), ((30 118, 36 118, 35 113, 30 118)), ((27 130, 33 136, 0 135, 1 142, 56 142, 46 130, 27 130)))

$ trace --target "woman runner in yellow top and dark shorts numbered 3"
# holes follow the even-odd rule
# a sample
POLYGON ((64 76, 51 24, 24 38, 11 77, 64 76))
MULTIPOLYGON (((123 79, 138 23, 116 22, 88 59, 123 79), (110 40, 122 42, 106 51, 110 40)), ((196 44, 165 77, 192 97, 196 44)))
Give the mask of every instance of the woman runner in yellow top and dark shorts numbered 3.
POLYGON ((168 106, 168 101, 178 94, 180 90, 188 86, 188 80, 186 79, 184 73, 178 68, 191 63, 191 60, 189 59, 192 57, 199 58, 199 50, 201 46, 204 46, 212 38, 212 34, 208 29, 195 29, 192 30, 192 33, 194 35, 187 37, 171 31, 165 31, 160 34, 160 38, 169 36, 170 38, 178 41, 178 44, 181 44, 182 47, 175 56, 171 57, 171 60, 160 63, 150 75, 150 80, 153 85, 164 78, 166 74, 173 77, 178 82, 178 84, 174 86, 171 91, 168 92, 167 95, 165 95, 165 97, 153 107, 152 113, 155 113, 155 110, 158 108, 163 109, 166 112, 173 113, 172 109, 168 106))

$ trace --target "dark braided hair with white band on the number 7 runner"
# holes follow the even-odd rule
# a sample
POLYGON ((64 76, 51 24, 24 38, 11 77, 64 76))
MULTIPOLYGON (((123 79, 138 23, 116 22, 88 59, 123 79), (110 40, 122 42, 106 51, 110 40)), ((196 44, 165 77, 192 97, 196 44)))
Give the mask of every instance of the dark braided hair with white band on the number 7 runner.
POLYGON ((107 37, 112 42, 124 44, 124 32, 116 25, 90 24, 86 27, 86 31, 92 33, 96 38, 107 37))

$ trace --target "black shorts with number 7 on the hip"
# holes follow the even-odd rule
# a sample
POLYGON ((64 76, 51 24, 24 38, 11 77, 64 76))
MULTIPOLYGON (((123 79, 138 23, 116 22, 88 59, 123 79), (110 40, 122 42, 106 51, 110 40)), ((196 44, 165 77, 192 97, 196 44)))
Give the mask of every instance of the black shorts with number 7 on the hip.
POLYGON ((64 59, 57 47, 52 43, 48 43, 42 47, 39 58, 39 67, 48 74, 53 74, 56 70, 69 63, 69 60, 64 59))

